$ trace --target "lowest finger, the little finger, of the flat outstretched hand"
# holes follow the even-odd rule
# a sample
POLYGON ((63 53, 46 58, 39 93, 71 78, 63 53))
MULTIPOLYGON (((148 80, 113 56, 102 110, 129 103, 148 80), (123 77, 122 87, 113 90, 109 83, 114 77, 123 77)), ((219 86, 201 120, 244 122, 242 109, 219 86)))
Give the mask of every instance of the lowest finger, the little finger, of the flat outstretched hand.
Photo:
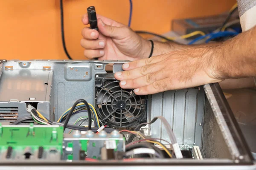
POLYGON ((153 82, 150 85, 146 85, 141 88, 136 88, 134 89, 134 92, 137 95, 157 94, 159 92, 170 90, 170 84, 171 84, 171 80, 168 77, 168 78, 153 82))

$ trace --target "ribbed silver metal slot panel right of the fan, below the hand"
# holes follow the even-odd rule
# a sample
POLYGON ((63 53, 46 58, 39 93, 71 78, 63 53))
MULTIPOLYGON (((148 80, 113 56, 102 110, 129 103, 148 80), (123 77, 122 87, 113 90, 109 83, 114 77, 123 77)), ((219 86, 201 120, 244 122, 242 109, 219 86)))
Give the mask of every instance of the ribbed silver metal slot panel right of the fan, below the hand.
MULTIPOLYGON (((173 127, 180 145, 194 145, 196 143, 201 147, 204 90, 199 89, 166 91, 152 95, 149 119, 151 120, 155 116, 164 116, 173 127)), ((170 142, 165 127, 159 120, 152 124, 150 128, 153 138, 161 138, 170 142)))

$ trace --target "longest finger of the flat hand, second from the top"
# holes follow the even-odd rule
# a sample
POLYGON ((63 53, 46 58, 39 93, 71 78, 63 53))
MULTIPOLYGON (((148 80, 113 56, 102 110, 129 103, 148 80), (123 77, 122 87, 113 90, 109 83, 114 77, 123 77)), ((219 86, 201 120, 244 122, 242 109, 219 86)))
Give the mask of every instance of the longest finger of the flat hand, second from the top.
POLYGON ((164 63, 158 64, 158 65, 155 65, 155 64, 144 65, 143 67, 135 68, 133 70, 117 72, 115 74, 115 78, 118 80, 136 79, 139 77, 143 77, 146 74, 160 71, 164 68, 164 66, 165 66, 164 63))

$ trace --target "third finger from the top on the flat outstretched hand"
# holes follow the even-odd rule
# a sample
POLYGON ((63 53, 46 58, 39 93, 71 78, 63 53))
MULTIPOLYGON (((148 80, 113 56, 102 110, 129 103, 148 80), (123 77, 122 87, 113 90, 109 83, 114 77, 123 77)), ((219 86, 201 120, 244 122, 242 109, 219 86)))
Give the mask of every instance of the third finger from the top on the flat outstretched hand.
POLYGON ((166 77, 168 77, 168 74, 164 73, 163 70, 160 70, 155 73, 150 73, 143 77, 139 77, 137 79, 122 80, 120 82, 120 87, 128 89, 140 88, 146 85, 150 85, 155 81, 165 79, 166 77))

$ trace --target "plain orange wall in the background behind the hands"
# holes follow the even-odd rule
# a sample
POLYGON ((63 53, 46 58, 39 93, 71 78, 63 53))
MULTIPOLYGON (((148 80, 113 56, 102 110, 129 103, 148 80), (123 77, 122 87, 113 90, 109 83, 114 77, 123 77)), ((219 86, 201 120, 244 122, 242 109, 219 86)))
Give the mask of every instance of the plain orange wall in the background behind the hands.
MULTIPOLYGON (((174 18, 220 14, 234 3, 236 0, 133 0, 131 28, 164 33, 174 18)), ((67 49, 74 59, 84 59, 81 16, 88 6, 128 23, 129 0, 64 0, 67 49)), ((59 0, 0 0, 0 23, 0 59, 67 59, 61 46, 59 0)))

